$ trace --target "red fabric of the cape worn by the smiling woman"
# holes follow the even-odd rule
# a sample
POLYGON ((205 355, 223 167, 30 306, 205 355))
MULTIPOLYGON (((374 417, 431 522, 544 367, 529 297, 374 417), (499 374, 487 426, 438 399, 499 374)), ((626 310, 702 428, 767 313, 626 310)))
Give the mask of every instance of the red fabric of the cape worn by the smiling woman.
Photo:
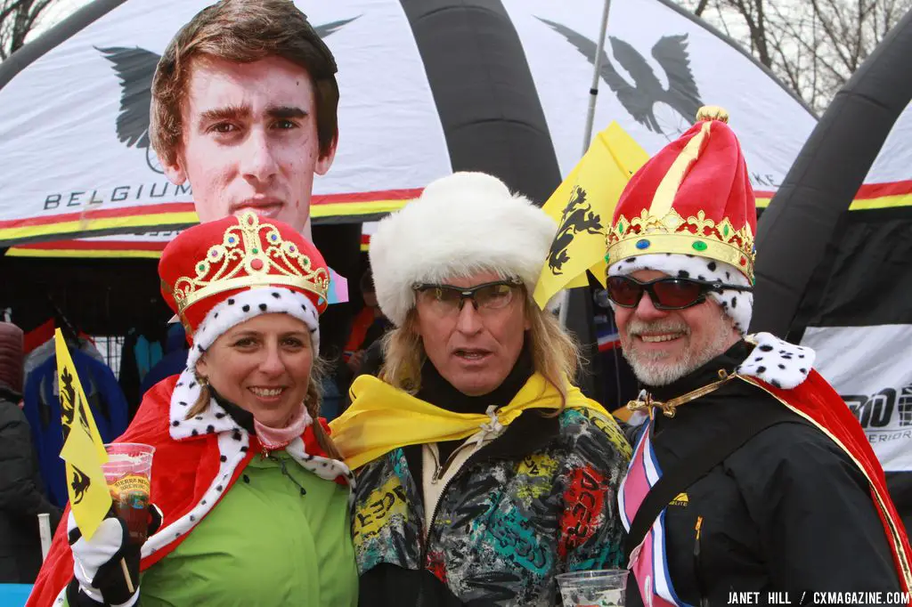
MULTIPOLYGON (((180 441, 171 438, 169 432, 169 407, 171 393, 178 376, 171 376, 161 381, 143 396, 142 405, 136 413, 130 427, 115 442, 145 443, 155 448, 152 458, 151 500, 163 515, 162 526, 171 520, 178 520, 187 514, 202 499, 203 493, 212 484, 219 470, 219 448, 217 435, 207 434, 186 438, 180 441)), ((326 435, 329 428, 322 417, 319 423, 326 435)), ((301 435, 306 452, 327 457, 317 445, 313 428, 308 426, 301 435)), ((250 448, 240 465, 234 469, 224 496, 234 482, 241 476, 244 468, 261 450, 256 437, 250 437, 250 448)), ((343 481, 344 484, 344 481, 343 481)), ((51 607, 57 595, 73 578, 73 553, 67 542, 67 515, 64 511, 63 522, 57 527, 47 559, 38 573, 35 587, 28 597, 26 607, 51 607)), ((140 561, 140 571, 148 569, 177 548, 189 534, 181 535, 177 540, 157 550, 154 554, 140 561)))

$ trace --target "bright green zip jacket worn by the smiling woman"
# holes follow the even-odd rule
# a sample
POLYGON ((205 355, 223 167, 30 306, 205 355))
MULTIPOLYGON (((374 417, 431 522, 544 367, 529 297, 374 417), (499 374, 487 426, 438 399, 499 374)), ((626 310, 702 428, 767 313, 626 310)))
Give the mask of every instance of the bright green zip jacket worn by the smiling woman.
POLYGON ((347 487, 285 451, 254 457, 187 539, 143 571, 140 604, 355 607, 347 499, 347 487))

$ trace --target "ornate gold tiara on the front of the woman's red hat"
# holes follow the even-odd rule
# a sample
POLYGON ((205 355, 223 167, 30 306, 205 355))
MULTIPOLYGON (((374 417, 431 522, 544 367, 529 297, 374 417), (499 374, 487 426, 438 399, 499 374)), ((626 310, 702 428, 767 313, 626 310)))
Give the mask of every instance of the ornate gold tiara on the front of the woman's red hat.
POLYGON ((194 276, 181 276, 173 285, 162 285, 174 297, 178 314, 215 293, 251 286, 286 285, 326 301, 329 273, 311 262, 294 242, 287 242, 272 223, 260 221, 246 211, 224 231, 222 242, 213 244, 193 264, 194 276))

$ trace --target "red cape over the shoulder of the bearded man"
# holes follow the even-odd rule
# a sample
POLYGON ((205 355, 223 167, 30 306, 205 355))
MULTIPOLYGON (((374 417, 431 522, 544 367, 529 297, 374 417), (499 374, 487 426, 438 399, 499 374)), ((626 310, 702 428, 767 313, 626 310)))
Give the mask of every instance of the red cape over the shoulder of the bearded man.
POLYGON ((909 592, 912 588, 912 571, 909 568, 909 555, 912 554, 912 550, 909 548, 906 528, 886 490, 884 469, 881 468, 865 431, 849 407, 845 406, 842 397, 814 370, 802 384, 790 390, 771 386, 754 377, 741 378, 761 387, 783 405, 820 428, 865 473, 870 483, 871 498, 884 524, 886 542, 893 551, 893 562, 896 565, 900 586, 903 592, 909 592))

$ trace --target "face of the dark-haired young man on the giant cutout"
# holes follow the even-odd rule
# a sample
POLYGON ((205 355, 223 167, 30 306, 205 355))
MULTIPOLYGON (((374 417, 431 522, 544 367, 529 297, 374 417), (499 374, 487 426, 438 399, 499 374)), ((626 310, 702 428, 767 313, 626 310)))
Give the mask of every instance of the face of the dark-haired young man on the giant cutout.
POLYGON ((250 209, 304 230, 314 175, 325 174, 336 153, 334 143, 320 155, 305 68, 281 57, 194 58, 181 118, 177 164, 165 172, 190 180, 200 221, 250 209))

